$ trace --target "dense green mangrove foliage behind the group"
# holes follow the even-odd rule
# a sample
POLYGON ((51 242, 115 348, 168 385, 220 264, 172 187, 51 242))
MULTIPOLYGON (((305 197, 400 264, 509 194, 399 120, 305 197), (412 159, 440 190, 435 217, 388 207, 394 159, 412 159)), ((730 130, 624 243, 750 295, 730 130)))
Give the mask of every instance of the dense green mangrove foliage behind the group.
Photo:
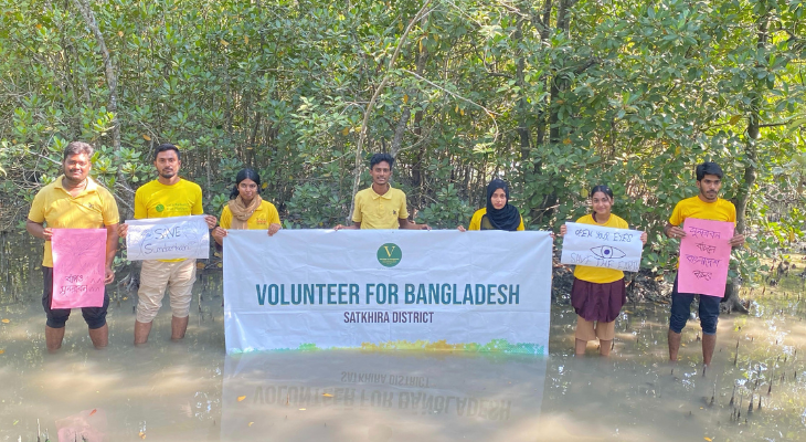
POLYGON ((466 223, 502 176, 529 228, 556 230, 608 183, 614 212, 649 231, 656 271, 674 269, 659 233, 694 194, 694 166, 719 161, 724 197, 749 196, 746 274, 806 221, 800 3, 558 0, 544 14, 437 1, 402 41, 418 2, 92 2, 118 78, 112 115, 98 42, 72 2, 0 0, 0 200, 24 212, 83 139, 94 176, 130 201, 125 185, 152 179, 153 147, 171 141, 208 212, 246 166, 287 227, 330 227, 349 215, 369 112, 361 156, 396 155, 418 222, 466 223))

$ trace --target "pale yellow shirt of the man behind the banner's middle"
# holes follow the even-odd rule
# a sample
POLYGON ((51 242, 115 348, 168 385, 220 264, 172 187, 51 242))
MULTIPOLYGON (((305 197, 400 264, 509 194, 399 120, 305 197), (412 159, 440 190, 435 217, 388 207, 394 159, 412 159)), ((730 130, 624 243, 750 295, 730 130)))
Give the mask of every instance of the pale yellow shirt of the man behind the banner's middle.
POLYGON ((389 187, 386 193, 378 194, 372 187, 356 193, 356 209, 352 220, 361 229, 400 229, 400 221, 409 218, 406 194, 389 187))

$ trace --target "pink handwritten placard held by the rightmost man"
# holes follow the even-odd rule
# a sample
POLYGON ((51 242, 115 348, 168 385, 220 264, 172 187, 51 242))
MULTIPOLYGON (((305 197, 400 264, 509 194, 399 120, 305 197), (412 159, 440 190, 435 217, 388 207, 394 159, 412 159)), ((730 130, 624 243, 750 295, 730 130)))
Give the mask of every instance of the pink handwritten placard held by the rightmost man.
POLYGON ((732 222, 687 218, 686 236, 680 240, 679 293, 724 296, 731 260, 732 222))

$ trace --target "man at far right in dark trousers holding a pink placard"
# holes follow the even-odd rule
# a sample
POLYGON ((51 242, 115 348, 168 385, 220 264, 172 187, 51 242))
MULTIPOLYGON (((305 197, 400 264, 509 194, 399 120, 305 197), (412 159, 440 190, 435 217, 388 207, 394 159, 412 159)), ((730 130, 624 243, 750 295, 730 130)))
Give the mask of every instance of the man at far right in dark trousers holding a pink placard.
MULTIPOLYGON (((700 193, 697 197, 687 198, 675 206, 669 222, 664 228, 664 233, 669 238, 680 239, 686 236, 686 231, 680 227, 687 218, 702 220, 727 221, 735 224, 736 208, 732 202, 719 198, 719 190, 722 187, 722 168, 715 162, 703 162, 697 166, 697 188, 700 193)), ((744 235, 734 234, 730 240, 733 248, 744 244, 744 235)), ((669 359, 677 360, 680 349, 682 328, 690 315, 691 302, 694 296, 700 298, 700 325, 702 326, 702 362, 706 367, 711 365, 713 349, 717 347, 717 323, 719 322, 719 304, 721 298, 717 296, 700 295, 696 293, 678 293, 677 277, 671 290, 671 314, 669 316, 669 359)))

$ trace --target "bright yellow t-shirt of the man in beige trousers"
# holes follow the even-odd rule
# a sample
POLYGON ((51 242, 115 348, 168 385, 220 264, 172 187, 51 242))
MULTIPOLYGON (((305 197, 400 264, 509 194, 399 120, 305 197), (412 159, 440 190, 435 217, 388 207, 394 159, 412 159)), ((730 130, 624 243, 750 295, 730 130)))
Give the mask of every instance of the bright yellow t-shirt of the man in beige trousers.
MULTIPOLYGON (((135 219, 188 217, 204 213, 201 187, 195 182, 180 179, 173 186, 153 180, 140 186, 135 192, 135 219)), ((162 262, 180 262, 159 260, 162 262)))

